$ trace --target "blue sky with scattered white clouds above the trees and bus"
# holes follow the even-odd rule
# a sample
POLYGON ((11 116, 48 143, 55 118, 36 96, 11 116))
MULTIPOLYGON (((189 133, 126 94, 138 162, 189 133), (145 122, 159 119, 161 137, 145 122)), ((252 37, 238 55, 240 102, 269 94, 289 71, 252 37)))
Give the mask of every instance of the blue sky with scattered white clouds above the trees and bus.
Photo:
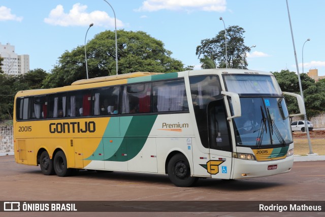
MULTIPOLYGON (((0 0, 0 43, 28 54, 30 70, 51 72, 64 51, 84 45, 90 23, 86 41, 115 30, 110 5, 117 29, 146 32, 185 67, 200 69, 196 48, 224 29, 222 17, 226 27, 244 28, 246 46, 256 46, 247 53, 248 69, 297 72, 286 0, 0 0)), ((325 1, 288 0, 288 6, 299 72, 318 69, 324 76, 325 1)))

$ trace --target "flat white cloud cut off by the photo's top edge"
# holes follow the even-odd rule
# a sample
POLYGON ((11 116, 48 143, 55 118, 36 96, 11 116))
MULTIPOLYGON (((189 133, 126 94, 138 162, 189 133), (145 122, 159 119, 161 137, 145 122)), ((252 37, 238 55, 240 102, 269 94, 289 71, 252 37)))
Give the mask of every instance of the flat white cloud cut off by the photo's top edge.
POLYGON ((226 0, 147 0, 137 11, 217 11, 224 12, 226 10, 226 0))

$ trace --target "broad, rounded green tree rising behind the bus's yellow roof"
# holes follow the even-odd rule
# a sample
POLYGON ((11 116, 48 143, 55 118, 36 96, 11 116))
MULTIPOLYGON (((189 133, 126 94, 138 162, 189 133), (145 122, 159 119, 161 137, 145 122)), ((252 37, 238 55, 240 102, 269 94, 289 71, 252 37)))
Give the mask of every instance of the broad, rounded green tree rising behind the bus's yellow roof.
MULTIPOLYGON (((170 73, 182 71, 180 60, 171 57, 172 52, 164 43, 145 32, 117 31, 118 74, 137 71, 170 73)), ((116 74, 115 33, 105 31, 96 35, 86 45, 88 77, 116 74)), ((190 68, 190 67, 187 67, 190 68)), ((44 87, 70 85, 86 79, 84 46, 64 52, 44 81, 44 87)))

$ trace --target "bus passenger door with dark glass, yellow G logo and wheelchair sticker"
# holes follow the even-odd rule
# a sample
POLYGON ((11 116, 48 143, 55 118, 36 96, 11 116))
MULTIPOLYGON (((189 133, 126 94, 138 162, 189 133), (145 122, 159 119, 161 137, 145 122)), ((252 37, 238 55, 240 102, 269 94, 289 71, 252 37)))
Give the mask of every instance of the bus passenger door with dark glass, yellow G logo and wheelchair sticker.
POLYGON ((208 105, 210 161, 207 170, 212 178, 229 179, 232 168, 232 142, 223 100, 208 105))

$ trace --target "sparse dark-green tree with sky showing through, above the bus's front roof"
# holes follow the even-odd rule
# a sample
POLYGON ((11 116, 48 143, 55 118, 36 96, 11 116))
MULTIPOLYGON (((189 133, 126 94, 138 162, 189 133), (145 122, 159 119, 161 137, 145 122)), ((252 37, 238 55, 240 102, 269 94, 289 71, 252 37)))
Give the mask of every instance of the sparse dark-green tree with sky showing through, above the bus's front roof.
POLYGON ((244 44, 243 35, 245 30, 238 25, 233 25, 226 28, 226 33, 227 59, 225 58, 224 30, 221 30, 212 39, 202 40, 201 45, 197 47, 196 54, 201 60, 211 59, 215 66, 218 65, 219 68, 225 68, 225 62, 227 62, 229 68, 246 69, 248 66, 246 52, 250 51, 250 47, 244 44))

